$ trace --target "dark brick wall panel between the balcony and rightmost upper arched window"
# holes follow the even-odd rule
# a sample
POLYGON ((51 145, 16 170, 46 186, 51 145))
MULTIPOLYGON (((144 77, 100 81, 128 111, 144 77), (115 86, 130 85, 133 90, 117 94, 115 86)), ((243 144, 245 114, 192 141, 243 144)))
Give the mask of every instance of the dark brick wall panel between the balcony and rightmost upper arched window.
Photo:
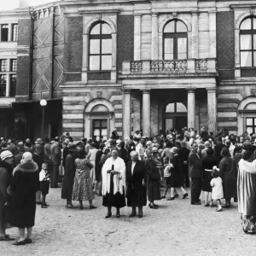
POLYGON ((218 12, 216 17, 217 61, 220 79, 235 76, 235 26, 233 12, 218 12))

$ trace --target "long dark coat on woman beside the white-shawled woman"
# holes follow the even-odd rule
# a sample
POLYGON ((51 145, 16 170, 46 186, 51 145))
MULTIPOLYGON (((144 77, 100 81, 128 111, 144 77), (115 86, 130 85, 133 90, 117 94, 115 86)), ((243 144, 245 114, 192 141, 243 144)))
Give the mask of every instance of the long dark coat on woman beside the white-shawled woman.
POLYGON ((126 198, 128 207, 143 207, 147 205, 147 172, 143 161, 137 160, 131 173, 132 161, 128 162, 126 168, 126 198))

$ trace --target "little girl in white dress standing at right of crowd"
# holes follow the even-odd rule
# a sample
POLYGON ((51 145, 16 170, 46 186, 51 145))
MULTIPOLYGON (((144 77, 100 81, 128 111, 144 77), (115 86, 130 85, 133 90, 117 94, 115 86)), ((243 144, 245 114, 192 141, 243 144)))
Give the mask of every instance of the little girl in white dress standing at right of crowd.
POLYGON ((223 187, 222 187, 222 179, 221 177, 218 177, 218 168, 216 166, 213 166, 212 171, 212 180, 211 180, 211 186, 212 186, 212 200, 217 201, 217 209, 216 212, 221 212, 221 198, 224 197, 223 195, 223 187))

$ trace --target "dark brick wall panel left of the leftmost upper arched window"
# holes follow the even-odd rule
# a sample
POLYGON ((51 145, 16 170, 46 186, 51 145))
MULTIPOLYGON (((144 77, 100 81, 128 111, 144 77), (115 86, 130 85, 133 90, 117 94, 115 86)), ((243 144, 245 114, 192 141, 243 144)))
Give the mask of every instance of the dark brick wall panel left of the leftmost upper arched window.
MULTIPOLYGON (((67 17, 65 19, 65 38, 64 38, 64 72, 82 71, 82 53, 83 53, 83 17, 67 17)), ((77 76, 76 81, 81 74, 66 75, 65 80, 77 76)))

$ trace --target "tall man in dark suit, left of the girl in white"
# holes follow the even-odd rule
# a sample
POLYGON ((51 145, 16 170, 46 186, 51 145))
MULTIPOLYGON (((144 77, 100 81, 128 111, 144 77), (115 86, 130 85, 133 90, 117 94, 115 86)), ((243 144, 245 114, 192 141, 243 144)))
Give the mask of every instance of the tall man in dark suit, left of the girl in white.
POLYGON ((198 145, 193 143, 189 153, 189 177, 191 180, 191 205, 201 205, 202 163, 197 154, 198 145))

